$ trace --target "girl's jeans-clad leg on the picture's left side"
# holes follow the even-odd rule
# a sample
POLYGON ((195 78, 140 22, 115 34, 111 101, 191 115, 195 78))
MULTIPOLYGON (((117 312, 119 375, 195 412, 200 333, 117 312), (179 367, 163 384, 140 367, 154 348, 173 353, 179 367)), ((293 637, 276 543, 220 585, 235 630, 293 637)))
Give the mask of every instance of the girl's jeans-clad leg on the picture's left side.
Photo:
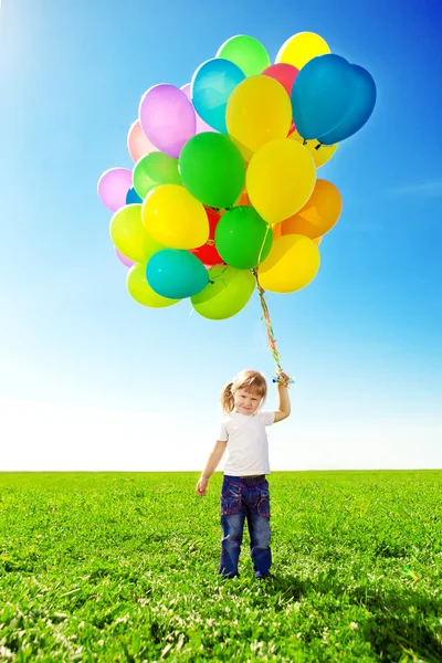
POLYGON ((241 499, 241 482, 224 477, 221 491, 221 560, 219 572, 225 577, 238 576, 245 520, 245 506, 241 499))

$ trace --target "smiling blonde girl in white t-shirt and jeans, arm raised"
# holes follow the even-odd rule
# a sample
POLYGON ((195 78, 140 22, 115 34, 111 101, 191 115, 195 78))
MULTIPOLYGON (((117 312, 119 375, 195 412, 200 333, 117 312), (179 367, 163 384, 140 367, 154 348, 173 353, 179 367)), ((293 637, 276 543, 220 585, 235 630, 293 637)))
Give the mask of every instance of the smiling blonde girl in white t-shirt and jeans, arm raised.
POLYGON ((267 578, 272 566, 270 549, 270 495, 265 475, 270 473, 269 442, 265 427, 286 419, 291 413, 287 387, 278 386, 280 404, 276 412, 261 410, 267 393, 263 375, 256 370, 242 371, 221 392, 225 418, 197 493, 206 495, 210 476, 225 449, 221 490, 221 561, 223 578, 238 576, 244 522, 250 534, 250 555, 256 578, 267 578))

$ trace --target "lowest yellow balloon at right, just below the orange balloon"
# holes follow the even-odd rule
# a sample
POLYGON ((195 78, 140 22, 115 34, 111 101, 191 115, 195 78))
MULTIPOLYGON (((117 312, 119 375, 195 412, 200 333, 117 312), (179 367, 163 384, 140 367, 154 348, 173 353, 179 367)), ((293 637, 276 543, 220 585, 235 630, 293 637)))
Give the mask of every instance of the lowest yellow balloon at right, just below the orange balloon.
POLYGON ((283 235, 273 242, 269 256, 261 263, 261 286, 273 293, 293 293, 311 283, 319 269, 317 245, 304 235, 283 235))

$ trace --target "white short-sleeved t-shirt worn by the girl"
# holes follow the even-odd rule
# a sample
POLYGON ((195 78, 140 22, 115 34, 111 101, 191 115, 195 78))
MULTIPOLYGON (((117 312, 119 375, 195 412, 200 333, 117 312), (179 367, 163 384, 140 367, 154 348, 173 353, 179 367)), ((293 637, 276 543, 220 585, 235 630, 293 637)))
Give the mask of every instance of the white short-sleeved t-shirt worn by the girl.
POLYGON ((252 476, 270 474, 269 440, 265 427, 275 420, 275 413, 259 410, 254 414, 232 412, 221 421, 218 440, 228 443, 224 474, 252 476))

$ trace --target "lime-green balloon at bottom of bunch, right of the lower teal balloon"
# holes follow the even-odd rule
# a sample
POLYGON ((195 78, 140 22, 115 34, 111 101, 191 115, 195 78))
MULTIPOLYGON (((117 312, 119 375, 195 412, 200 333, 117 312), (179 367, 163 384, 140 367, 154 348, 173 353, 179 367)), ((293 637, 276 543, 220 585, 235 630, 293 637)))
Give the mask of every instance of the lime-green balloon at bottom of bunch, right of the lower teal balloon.
POLYGON ((256 284, 251 272, 229 265, 211 267, 209 278, 213 283, 190 301, 197 313, 211 320, 224 320, 236 315, 249 302, 256 284))

